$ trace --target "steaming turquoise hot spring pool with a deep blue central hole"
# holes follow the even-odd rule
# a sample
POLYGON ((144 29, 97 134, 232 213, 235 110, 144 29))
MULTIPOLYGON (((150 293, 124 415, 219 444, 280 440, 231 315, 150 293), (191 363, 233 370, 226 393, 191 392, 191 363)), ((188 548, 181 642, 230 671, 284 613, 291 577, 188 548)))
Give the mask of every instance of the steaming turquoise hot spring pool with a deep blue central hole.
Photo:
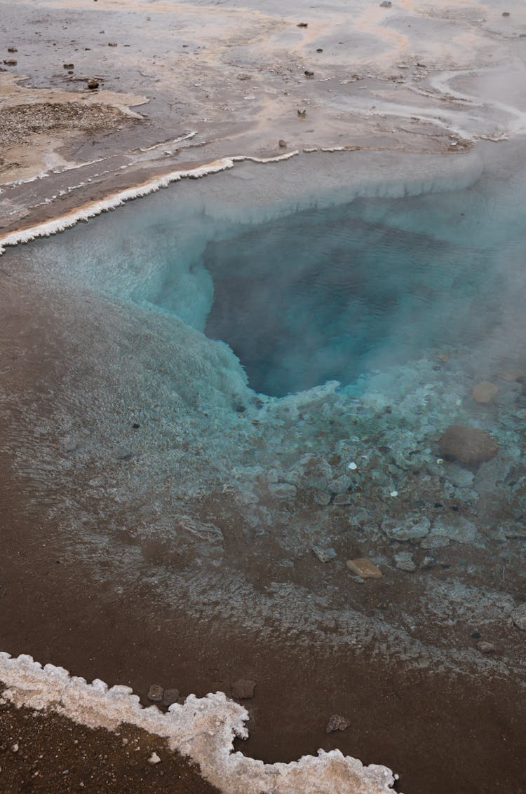
MULTIPOLYGON (((157 677, 177 648, 188 687, 224 689, 217 647, 238 642, 228 665, 249 658, 271 703, 293 646, 284 680, 302 665, 329 680, 304 703, 323 710, 338 692, 331 714, 362 719, 339 743, 319 738, 292 697, 275 733, 280 690, 275 711, 258 712, 265 760, 314 741, 371 753, 359 700, 370 665, 383 665, 378 708, 389 711, 393 669, 420 681, 404 695, 416 722, 412 698, 436 676, 466 676, 462 692, 468 679, 524 679, 512 617, 526 554, 524 179, 517 152, 497 164, 480 152, 397 158, 397 171, 389 156, 320 156, 315 186, 305 158, 236 165, 2 259, 19 287, 0 341, 33 362, 2 397, 17 417, 2 450, 41 511, 41 540, 83 566, 104 608, 131 599, 137 630, 157 626, 157 677), (483 431, 497 453, 446 455, 451 426, 483 431), (364 559, 381 577, 347 565, 364 559), (206 653, 191 646, 199 631, 220 638, 206 653)), ((126 672, 108 664, 106 678, 126 672)), ((439 709, 447 694, 432 692, 439 709)), ((493 726, 493 711, 482 728, 494 747, 509 715, 493 726)), ((405 730, 386 713, 380 723, 405 730)), ((454 783, 441 769, 436 792, 467 790, 462 770, 472 784, 491 757, 477 747, 454 783)))

